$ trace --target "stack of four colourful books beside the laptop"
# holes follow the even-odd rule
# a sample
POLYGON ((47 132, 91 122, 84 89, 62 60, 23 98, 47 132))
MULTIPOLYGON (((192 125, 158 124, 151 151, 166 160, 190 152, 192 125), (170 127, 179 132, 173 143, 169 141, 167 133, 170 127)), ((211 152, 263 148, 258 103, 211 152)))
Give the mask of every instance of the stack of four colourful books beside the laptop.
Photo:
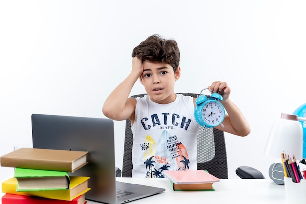
POLYGON ((86 204, 86 176, 69 176, 85 166, 87 151, 21 148, 1 156, 1 166, 15 168, 2 182, 2 204, 86 204))

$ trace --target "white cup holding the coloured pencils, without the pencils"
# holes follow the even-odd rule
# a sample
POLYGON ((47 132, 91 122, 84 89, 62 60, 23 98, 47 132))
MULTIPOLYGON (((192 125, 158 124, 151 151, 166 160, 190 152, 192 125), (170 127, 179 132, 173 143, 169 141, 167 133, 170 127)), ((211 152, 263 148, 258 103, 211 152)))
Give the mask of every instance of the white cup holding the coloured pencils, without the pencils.
POLYGON ((306 179, 296 183, 292 178, 284 177, 284 182, 287 204, 306 204, 306 179))

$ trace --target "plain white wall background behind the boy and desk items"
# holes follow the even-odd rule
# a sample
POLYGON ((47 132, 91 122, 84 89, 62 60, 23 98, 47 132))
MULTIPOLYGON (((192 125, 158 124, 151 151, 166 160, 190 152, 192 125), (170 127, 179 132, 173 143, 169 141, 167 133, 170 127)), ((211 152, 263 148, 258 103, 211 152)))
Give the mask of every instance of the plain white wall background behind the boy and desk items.
MULTIPOLYGON (((226 133, 229 178, 263 154, 273 122, 306 102, 305 0, 0 0, 0 155, 31 144, 31 114, 105 118, 109 93, 131 71, 131 52, 152 34, 181 51, 176 92, 226 81, 251 126, 226 133)), ((137 82, 132 94, 144 93, 137 82)), ((123 121, 115 121, 122 166, 123 121)), ((0 167, 1 179, 13 169, 0 167)))

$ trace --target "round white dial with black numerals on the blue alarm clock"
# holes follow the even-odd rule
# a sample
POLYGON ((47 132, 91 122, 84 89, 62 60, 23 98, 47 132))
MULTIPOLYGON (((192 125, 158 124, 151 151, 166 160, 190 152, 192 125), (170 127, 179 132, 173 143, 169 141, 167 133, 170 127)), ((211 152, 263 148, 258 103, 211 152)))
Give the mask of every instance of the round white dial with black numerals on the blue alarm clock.
POLYGON ((219 125, 224 119, 224 108, 218 101, 204 102, 201 110, 203 122, 210 126, 219 125))

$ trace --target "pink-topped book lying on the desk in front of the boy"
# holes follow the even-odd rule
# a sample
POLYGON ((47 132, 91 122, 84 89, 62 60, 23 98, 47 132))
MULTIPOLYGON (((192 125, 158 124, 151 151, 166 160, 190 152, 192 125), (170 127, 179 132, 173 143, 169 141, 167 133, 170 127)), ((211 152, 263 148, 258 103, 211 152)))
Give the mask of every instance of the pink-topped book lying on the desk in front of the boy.
POLYGON ((213 184, 220 181, 204 170, 163 171, 163 174, 172 182, 173 190, 214 191, 213 184))

